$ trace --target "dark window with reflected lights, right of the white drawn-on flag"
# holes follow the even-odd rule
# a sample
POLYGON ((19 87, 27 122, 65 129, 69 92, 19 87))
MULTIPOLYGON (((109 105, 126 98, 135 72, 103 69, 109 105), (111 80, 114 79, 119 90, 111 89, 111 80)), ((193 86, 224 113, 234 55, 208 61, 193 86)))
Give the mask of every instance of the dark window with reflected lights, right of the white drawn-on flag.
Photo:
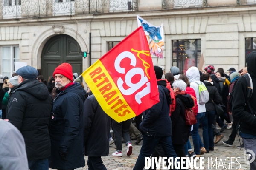
POLYGON ((201 40, 172 40, 172 66, 180 68, 180 73, 197 67, 201 57, 201 40))

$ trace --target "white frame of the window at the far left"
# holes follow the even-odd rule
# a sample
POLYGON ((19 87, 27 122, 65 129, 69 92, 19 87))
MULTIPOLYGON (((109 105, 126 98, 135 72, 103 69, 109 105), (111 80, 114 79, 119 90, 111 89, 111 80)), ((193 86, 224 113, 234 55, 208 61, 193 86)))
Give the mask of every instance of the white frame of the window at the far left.
MULTIPOLYGON (((9 72, 10 72, 10 75, 8 75, 8 77, 11 77, 13 73, 15 73, 15 67, 14 67, 14 62, 16 59, 19 59, 19 62, 20 62, 20 45, 1 45, 1 74, 3 75, 3 47, 10 47, 11 48, 11 51, 10 51, 10 54, 11 54, 11 65, 10 65, 10 68, 9 68, 9 72), (14 55, 15 55, 15 48, 14 47, 18 47, 19 48, 19 58, 14 58, 14 55)), ((3 75, 3 76, 7 76, 7 75, 3 75)))

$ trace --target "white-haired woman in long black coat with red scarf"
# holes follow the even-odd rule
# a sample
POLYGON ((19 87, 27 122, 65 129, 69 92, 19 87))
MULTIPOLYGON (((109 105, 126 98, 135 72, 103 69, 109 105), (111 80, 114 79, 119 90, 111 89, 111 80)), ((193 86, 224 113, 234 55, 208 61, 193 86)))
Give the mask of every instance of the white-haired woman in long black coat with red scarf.
MULTIPOLYGON (((189 139, 191 125, 186 125, 185 109, 195 107, 195 102, 186 93, 187 84, 181 80, 176 80, 173 84, 173 91, 176 98, 175 111, 172 112, 172 145, 178 157, 186 157, 184 144, 189 139)), ((183 165, 186 166, 186 163, 183 165)))

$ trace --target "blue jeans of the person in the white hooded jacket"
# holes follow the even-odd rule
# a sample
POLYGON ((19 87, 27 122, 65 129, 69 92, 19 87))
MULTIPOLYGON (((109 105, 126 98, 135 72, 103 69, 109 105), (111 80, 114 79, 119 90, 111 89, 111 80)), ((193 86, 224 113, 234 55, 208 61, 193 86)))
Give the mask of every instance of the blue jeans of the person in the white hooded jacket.
POLYGON ((202 122, 202 120, 204 119, 204 114, 205 114, 205 112, 198 113, 196 115, 197 123, 195 125, 193 125, 193 130, 191 131, 193 144, 194 144, 194 152, 196 155, 200 155, 200 148, 204 147, 201 137, 198 134, 198 127, 199 127, 200 122, 202 122))

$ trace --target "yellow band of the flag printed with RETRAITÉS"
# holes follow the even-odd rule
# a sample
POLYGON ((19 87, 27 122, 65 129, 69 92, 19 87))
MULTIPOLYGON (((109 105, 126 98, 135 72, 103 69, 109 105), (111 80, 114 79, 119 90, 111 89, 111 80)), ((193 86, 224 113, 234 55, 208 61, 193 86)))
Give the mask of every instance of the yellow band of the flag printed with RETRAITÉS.
POLYGON ((103 111, 117 122, 136 116, 100 60, 84 71, 82 76, 103 111))

